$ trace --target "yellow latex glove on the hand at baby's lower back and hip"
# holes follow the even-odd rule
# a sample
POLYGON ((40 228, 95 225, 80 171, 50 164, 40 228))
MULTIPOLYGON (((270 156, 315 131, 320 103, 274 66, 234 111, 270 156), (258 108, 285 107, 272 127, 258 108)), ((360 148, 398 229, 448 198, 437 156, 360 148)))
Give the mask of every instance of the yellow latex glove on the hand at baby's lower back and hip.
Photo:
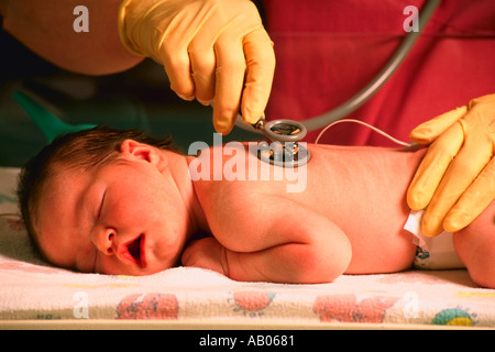
POLYGON ((428 206, 422 232, 463 229, 495 198, 495 95, 420 124, 410 138, 432 142, 407 194, 411 209, 428 206))

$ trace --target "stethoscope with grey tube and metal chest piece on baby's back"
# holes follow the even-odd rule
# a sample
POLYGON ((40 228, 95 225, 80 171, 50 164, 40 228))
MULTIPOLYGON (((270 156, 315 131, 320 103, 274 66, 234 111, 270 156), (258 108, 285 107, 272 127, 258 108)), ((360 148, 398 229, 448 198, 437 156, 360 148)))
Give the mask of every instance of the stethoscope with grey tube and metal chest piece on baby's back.
POLYGON ((356 95, 336 109, 301 122, 288 119, 266 122, 264 118, 261 118, 255 124, 250 125, 242 122, 242 117, 238 116, 237 127, 248 131, 263 133, 272 142, 271 147, 258 152, 258 158, 283 167, 305 165, 309 161, 310 154, 300 141, 302 141, 307 132, 318 130, 342 119, 373 97, 406 58, 440 1, 429 0, 426 3, 418 18, 418 32, 410 32, 376 77, 356 95))

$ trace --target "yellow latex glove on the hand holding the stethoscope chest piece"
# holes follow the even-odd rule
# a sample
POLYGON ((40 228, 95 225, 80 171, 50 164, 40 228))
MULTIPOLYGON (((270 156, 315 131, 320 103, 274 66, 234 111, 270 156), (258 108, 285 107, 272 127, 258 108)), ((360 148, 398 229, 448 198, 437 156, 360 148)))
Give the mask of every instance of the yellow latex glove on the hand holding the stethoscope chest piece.
POLYGON ((229 133, 239 110, 246 123, 263 116, 275 54, 251 1, 124 0, 119 33, 131 53, 164 65, 179 97, 213 101, 217 132, 229 133))

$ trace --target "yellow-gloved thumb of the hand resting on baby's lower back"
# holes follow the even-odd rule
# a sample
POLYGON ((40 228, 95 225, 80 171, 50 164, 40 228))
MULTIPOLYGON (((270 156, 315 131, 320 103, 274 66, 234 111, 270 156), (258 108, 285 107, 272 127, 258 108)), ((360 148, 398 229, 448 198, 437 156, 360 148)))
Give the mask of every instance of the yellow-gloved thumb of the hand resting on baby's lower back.
POLYGON ((447 131, 455 121, 460 120, 468 112, 468 107, 461 107, 444 112, 429 121, 426 121, 415 128, 409 138, 413 142, 419 144, 430 144, 444 131, 447 131))

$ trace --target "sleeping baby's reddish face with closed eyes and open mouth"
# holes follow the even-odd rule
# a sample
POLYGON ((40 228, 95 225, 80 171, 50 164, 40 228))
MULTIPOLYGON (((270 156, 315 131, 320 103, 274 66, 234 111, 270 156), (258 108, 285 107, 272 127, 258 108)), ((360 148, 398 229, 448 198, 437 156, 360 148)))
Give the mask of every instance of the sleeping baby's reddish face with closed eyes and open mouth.
POLYGON ((122 275, 173 266, 187 224, 173 178, 133 156, 50 179, 34 221, 42 252, 55 265, 122 275))

